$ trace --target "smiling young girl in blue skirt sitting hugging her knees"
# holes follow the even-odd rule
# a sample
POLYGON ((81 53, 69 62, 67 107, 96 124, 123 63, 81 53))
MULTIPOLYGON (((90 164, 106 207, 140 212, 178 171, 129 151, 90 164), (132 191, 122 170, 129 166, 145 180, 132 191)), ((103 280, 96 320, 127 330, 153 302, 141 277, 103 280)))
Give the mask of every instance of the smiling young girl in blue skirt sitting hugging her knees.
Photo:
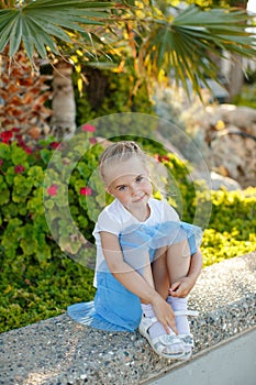
POLYGON ((201 230, 152 197, 146 155, 135 142, 108 147, 100 175, 114 200, 93 231, 97 294, 94 301, 69 306, 68 314, 98 329, 138 328, 158 355, 188 359, 193 339, 186 297, 201 271, 201 230))

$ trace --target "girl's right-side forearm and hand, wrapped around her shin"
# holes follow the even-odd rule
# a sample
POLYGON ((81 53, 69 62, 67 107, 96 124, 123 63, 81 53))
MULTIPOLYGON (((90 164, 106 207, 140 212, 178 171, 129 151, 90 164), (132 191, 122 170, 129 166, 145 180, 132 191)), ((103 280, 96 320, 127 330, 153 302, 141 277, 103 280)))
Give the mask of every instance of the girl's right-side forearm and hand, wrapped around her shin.
POLYGON ((191 292, 202 270, 202 253, 200 249, 191 256, 188 275, 174 283, 169 289, 172 297, 187 297, 191 292))

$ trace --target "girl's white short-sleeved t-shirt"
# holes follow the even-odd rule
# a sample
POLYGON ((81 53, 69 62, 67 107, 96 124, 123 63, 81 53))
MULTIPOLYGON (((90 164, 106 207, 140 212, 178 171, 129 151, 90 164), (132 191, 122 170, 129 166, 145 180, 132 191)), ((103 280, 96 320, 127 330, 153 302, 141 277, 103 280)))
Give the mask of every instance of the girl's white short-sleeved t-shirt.
MULTIPOLYGON (((98 217, 98 221, 94 227, 93 237, 97 245, 97 262, 96 273, 100 270, 103 271, 105 267, 104 254, 101 248, 100 232, 107 231, 116 237, 125 232, 125 229, 130 227, 143 226, 156 226, 168 221, 179 221, 179 216, 176 210, 166 201, 149 198, 148 206, 151 209, 149 217, 144 221, 140 222, 124 206, 114 199, 112 204, 107 206, 98 217)), ((96 276, 93 285, 97 286, 96 276)))

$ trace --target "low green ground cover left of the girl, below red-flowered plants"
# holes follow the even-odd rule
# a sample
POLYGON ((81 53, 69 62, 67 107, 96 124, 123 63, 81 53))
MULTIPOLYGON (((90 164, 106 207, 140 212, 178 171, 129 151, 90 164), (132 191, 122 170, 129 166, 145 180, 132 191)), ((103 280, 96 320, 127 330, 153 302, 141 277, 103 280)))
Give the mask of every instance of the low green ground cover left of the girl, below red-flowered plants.
POLYGON ((55 317, 68 305, 91 300, 93 271, 55 251, 44 265, 34 256, 8 257, 0 251, 0 331, 55 317))

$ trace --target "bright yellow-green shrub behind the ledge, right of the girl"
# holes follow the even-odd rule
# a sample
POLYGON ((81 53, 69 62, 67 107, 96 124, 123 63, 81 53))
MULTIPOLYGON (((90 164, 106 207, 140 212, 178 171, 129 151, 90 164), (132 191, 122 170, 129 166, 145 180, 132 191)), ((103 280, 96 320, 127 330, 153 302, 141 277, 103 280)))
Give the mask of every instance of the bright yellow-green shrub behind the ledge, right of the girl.
POLYGON ((211 200, 212 212, 202 241, 203 266, 256 250, 256 188, 202 193, 211 200))

